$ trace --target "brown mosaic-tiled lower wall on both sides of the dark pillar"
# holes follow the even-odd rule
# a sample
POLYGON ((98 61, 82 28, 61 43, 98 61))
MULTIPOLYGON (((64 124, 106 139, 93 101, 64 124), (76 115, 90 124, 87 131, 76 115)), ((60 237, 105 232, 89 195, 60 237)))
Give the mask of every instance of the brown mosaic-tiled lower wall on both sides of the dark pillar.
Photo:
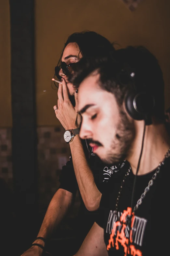
MULTIPOLYGON (((45 214, 52 196, 59 187, 59 175, 62 166, 70 156, 69 144, 64 141, 64 131, 62 126, 37 128, 39 209, 41 215, 45 214)), ((11 128, 0 128, 0 177, 5 179, 12 188, 11 154, 11 128)), ((69 218, 74 218, 78 206, 79 197, 77 195, 69 218)))

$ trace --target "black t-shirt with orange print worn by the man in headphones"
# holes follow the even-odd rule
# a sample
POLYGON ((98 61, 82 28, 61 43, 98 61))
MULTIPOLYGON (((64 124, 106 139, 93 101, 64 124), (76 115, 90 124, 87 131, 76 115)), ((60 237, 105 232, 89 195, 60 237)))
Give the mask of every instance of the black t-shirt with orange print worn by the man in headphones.
MULTIPOLYGON (((169 255, 170 157, 165 159, 157 178, 153 180, 152 186, 132 217, 131 230, 127 223, 131 215, 131 198, 135 178, 132 170, 122 185, 120 192, 118 203, 120 221, 115 212, 116 199, 120 191, 121 182, 127 173, 126 171, 122 170, 117 179, 109 180, 107 190, 102 194, 100 214, 96 218, 96 223, 104 228, 104 240, 108 255, 169 255), (128 247, 129 230, 131 243, 128 247), (128 248, 130 248, 129 252, 128 248)), ((136 177, 132 209, 134 209, 138 199, 144 193, 155 171, 156 169, 146 175, 136 177)))

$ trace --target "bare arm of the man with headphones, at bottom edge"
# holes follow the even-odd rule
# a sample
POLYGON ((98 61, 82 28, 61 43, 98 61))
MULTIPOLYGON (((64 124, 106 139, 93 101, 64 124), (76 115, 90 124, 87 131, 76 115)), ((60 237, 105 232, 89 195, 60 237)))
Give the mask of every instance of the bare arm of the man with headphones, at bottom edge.
POLYGON ((74 256, 108 256, 104 242, 104 230, 96 222, 74 256))

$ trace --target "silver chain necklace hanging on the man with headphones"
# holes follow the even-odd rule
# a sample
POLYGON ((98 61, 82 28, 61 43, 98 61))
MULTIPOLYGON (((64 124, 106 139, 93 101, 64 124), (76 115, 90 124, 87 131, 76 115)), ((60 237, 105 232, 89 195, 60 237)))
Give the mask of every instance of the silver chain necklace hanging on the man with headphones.
MULTIPOLYGON (((137 201, 137 204, 135 205, 134 210, 133 210, 134 213, 138 209, 139 205, 141 205, 142 200, 145 198, 146 193, 149 191, 150 187, 153 185, 153 181, 154 181, 154 179, 156 179, 157 174, 160 172, 160 168, 164 164, 165 159, 168 158, 169 156, 170 156, 170 149, 168 149, 168 151, 164 155, 164 158, 163 158, 162 162, 159 163, 159 166, 157 167, 156 172, 153 174, 152 179, 149 181, 148 186, 145 188, 144 193, 142 193, 140 199, 137 201)), ((122 186, 123 186, 127 176, 129 175, 130 171, 131 171, 131 167, 129 168, 129 170, 125 174, 125 176, 123 178, 123 181, 121 183, 121 187, 120 187, 120 190, 119 190, 118 198, 116 200, 116 207, 115 207, 116 212, 118 212, 118 203, 119 203, 119 198, 120 198, 120 193, 121 193, 121 190, 122 190, 122 186)))

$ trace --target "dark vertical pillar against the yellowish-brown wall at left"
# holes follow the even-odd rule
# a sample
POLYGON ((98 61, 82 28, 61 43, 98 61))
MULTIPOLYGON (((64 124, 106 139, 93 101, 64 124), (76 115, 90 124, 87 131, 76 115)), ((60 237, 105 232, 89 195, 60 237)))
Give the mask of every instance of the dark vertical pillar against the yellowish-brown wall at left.
MULTIPOLYGON (((12 160, 18 243, 36 235, 37 136, 35 109, 34 0, 10 0, 12 160)), ((29 244, 29 245, 28 245, 29 244)))

